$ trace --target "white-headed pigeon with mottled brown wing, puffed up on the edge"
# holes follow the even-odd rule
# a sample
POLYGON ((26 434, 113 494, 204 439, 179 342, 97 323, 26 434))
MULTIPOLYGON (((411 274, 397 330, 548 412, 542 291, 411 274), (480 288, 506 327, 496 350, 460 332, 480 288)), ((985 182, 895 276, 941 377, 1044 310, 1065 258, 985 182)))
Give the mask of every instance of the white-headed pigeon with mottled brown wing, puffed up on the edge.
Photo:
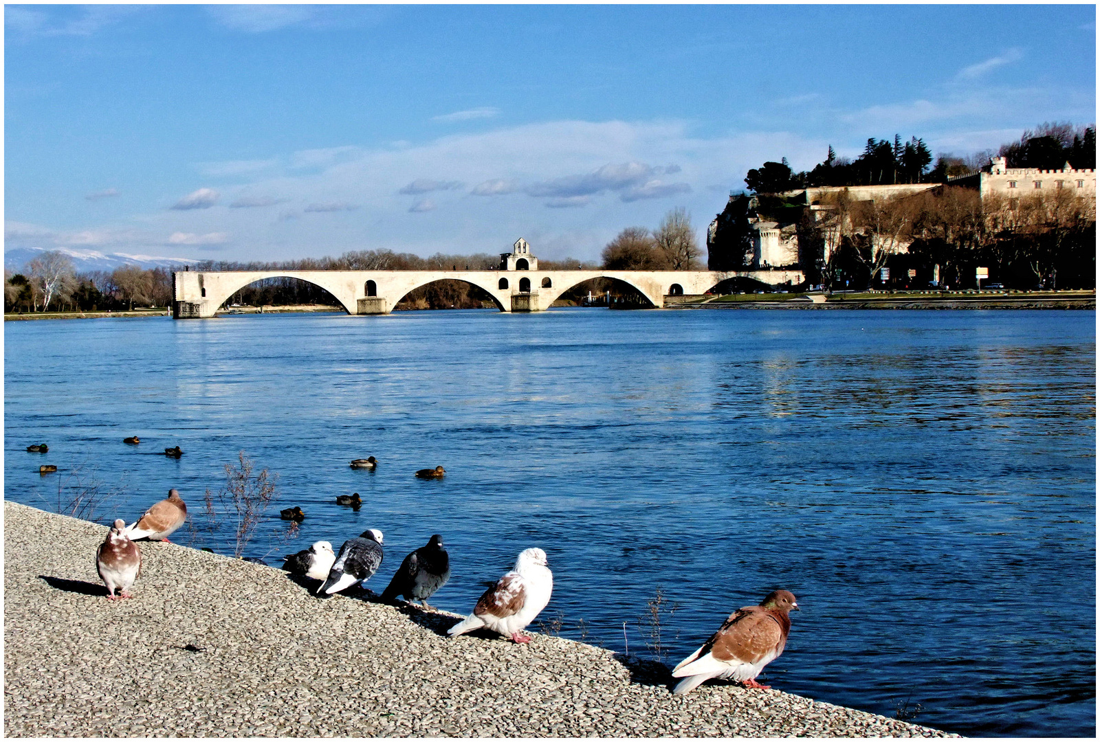
POLYGON ((519 632, 550 602, 552 589, 553 575, 547 566, 546 553, 541 549, 525 549, 512 572, 485 590, 474 606, 474 612, 447 633, 458 636, 486 627, 510 636, 517 644, 526 644, 531 641, 530 636, 519 632))

